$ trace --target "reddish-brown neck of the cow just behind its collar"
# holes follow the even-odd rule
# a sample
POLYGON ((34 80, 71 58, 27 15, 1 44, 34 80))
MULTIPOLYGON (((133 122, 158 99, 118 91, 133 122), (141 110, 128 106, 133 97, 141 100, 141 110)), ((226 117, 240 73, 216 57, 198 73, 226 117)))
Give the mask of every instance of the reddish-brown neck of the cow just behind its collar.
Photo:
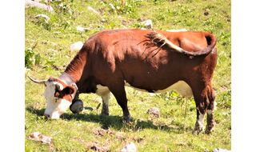
POLYGON ((87 52, 82 49, 66 67, 65 73, 68 74, 75 83, 77 83, 82 77, 82 71, 86 65, 86 59, 87 52))

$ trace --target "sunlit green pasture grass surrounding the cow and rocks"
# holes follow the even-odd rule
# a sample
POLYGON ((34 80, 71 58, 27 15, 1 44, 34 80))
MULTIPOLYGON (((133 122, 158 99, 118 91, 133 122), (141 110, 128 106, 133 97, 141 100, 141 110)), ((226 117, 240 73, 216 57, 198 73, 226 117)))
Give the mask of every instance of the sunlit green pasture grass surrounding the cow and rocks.
POLYGON ((214 73, 214 90, 218 108, 215 110, 217 125, 212 134, 193 135, 196 118, 194 99, 181 98, 175 92, 156 94, 126 88, 128 106, 134 121, 122 123, 122 109, 113 95, 110 98, 110 116, 100 117, 96 109, 101 102, 95 94, 82 94, 82 114, 68 111, 59 120, 45 120, 46 108, 42 96, 44 86, 35 85, 26 78, 26 151, 94 151, 92 146, 119 151, 128 142, 134 142, 138 151, 212 151, 214 148, 231 148, 231 41, 230 1, 62 1, 52 6, 56 13, 37 8, 26 8, 26 75, 36 78, 58 77, 76 52, 70 44, 86 41, 90 35, 103 29, 140 28, 146 19, 153 21, 154 29, 206 30, 218 39, 218 65, 214 73), (115 9, 112 9, 110 3, 115 9), (100 15, 87 10, 93 7, 100 15), (37 14, 50 17, 48 23, 36 20, 37 14), (90 28, 85 33, 76 26, 90 28), (147 114, 150 107, 160 109, 160 118, 147 114), (108 130, 102 127, 108 126, 108 130), (32 132, 53 137, 51 145, 27 139, 32 132))

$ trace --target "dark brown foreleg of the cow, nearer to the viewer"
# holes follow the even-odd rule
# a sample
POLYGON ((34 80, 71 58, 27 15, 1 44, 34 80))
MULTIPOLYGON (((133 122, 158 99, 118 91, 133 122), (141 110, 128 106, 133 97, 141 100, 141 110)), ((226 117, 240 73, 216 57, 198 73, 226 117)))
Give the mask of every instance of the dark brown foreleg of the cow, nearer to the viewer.
POLYGON ((130 122, 130 112, 127 107, 126 90, 124 86, 110 87, 110 91, 116 98, 118 105, 122 107, 124 122, 130 122))

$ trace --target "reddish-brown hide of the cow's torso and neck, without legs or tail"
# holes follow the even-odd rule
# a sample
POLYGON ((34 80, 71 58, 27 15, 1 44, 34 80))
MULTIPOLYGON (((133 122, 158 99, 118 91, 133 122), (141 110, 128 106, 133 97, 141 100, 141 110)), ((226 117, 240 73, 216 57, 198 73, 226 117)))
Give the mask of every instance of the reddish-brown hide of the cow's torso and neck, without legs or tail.
MULTIPOLYGON (((78 82, 80 92, 86 90, 83 87, 87 85, 83 82, 88 78, 94 79, 94 85, 110 86, 126 81, 144 90, 163 90, 178 80, 188 84, 194 78, 210 81, 217 62, 216 51, 206 57, 188 58, 184 54, 161 49, 152 58, 150 52, 156 47, 146 49, 143 43, 149 32, 106 30, 94 34, 67 67, 66 73, 78 82)), ((207 47, 206 33, 203 32, 158 32, 184 50, 196 52, 207 47)))

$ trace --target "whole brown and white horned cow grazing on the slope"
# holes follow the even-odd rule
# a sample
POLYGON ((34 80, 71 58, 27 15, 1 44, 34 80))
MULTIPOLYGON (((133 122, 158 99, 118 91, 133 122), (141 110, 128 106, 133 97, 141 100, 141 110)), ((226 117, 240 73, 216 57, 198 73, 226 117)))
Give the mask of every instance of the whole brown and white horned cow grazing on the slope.
POLYGON ((194 134, 214 128, 212 78, 218 54, 209 32, 162 30, 103 30, 91 36, 58 78, 36 80, 46 86, 47 118, 59 118, 78 100, 78 94, 102 97, 102 115, 109 115, 110 93, 130 122, 125 86, 149 93, 177 90, 194 97, 194 134))

